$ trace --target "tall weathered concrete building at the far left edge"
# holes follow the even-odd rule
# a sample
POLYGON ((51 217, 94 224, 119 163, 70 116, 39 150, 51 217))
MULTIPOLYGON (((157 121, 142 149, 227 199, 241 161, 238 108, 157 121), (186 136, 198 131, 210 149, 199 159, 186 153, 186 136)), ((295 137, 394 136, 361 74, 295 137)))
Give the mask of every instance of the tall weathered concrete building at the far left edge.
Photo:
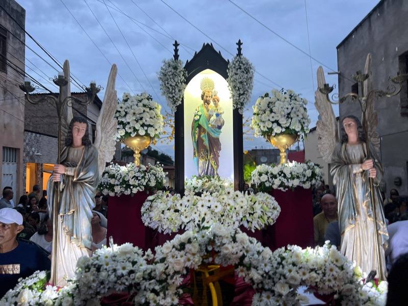
MULTIPOLYGON (((14 190, 14 202, 23 188, 25 10, 14 0, 1 1, 0 10, 0 186, 14 190)), ((0 193, 1 193, 0 191, 0 193)))

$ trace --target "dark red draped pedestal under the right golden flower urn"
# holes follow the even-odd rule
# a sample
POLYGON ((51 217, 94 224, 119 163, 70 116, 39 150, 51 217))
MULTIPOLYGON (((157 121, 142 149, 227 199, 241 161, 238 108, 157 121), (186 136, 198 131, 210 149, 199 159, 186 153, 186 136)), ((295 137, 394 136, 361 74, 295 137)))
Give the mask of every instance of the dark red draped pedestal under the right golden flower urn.
POLYGON ((270 227, 273 249, 295 244, 302 248, 314 246, 312 190, 296 187, 269 192, 281 206, 281 214, 270 227))

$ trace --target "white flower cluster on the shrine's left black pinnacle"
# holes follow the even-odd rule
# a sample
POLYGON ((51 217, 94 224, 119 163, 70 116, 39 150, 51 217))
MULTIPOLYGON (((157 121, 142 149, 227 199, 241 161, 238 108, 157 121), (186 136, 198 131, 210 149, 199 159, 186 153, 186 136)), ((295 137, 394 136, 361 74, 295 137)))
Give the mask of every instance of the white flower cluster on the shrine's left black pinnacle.
POLYGON ((182 103, 186 89, 187 71, 181 60, 163 60, 163 66, 158 72, 160 89, 166 97, 167 105, 172 112, 182 103))

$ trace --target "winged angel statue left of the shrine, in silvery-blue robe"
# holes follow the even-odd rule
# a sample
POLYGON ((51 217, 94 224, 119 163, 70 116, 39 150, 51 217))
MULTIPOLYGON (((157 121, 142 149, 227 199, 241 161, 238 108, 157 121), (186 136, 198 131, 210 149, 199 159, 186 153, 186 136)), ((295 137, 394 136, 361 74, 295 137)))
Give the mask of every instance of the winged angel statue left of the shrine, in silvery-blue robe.
POLYGON ((89 139, 87 120, 75 116, 67 122, 66 119, 72 116, 69 105, 63 112, 61 124, 67 131, 65 146, 61 151, 60 164, 54 166, 47 186, 50 208, 58 210, 58 219, 53 220, 54 224, 58 224, 58 235, 54 236, 57 239, 52 254, 52 279, 56 280, 54 285, 59 287, 65 286, 66 279, 74 276, 78 259, 91 254, 91 219, 96 187, 106 162, 111 161, 115 154, 116 74, 117 67, 113 65, 96 123, 97 134, 93 145, 89 139))

